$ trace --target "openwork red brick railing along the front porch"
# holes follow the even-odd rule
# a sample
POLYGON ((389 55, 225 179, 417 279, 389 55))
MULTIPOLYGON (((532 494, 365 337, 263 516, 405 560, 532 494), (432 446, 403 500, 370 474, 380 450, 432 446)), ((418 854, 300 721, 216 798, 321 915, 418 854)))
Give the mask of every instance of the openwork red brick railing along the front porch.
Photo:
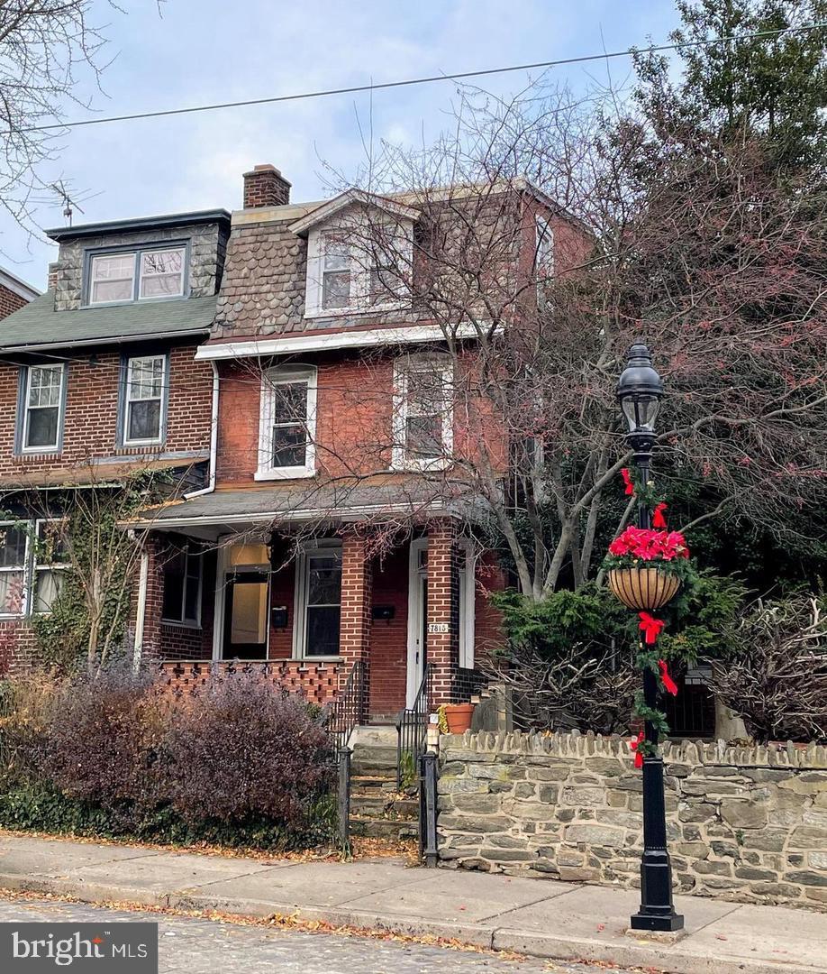
POLYGON ((258 673, 289 693, 300 693, 312 703, 329 703, 339 693, 341 662, 311 662, 306 659, 270 659, 235 662, 164 662, 162 683, 176 695, 198 693, 211 680, 234 673, 258 673))

